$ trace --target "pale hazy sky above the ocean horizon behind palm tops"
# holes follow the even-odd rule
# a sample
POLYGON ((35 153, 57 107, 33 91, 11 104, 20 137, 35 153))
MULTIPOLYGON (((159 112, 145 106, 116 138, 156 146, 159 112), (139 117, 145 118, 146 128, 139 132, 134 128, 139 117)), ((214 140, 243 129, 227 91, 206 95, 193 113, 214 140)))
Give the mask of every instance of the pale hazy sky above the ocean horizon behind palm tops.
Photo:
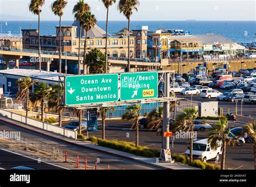
MULTIPOLYGON (((106 19, 102 0, 84 0, 91 6, 97 20, 106 19)), ((29 12, 29 0, 0 0, 0 20, 37 20, 29 12)), ((50 6, 53 0, 45 0, 41 20, 58 20, 50 6)), ((68 0, 62 20, 74 20, 73 6, 78 0, 68 0)), ((117 0, 118 2, 118 0, 117 0)), ((255 0, 139 0, 138 12, 131 20, 256 20, 255 0)), ((109 20, 126 20, 114 4, 109 20)))

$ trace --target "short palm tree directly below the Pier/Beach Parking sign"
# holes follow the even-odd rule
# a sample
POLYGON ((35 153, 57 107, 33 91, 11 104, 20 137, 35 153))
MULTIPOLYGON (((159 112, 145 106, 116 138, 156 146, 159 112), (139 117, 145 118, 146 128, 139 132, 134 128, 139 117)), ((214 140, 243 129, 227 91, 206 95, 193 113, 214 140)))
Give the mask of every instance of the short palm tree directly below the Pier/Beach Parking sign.
POLYGON ((135 140, 135 146, 139 146, 139 112, 142 109, 140 105, 131 105, 126 108, 127 111, 123 116, 123 120, 133 120, 131 129, 136 129, 136 140, 135 140))

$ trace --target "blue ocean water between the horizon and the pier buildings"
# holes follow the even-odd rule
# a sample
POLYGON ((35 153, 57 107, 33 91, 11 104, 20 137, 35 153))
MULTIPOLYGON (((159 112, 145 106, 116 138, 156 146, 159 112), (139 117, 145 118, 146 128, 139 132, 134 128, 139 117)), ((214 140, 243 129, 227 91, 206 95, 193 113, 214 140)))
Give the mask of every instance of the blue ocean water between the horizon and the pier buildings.
MULTIPOLYGON (((62 25, 72 25, 73 21, 62 21, 62 25)), ((19 26, 37 28, 37 21, 4 21, 2 20, 2 33, 19 35, 19 26)), ((97 24, 105 30, 105 21, 97 24)), ((55 26, 58 21, 41 21, 41 34, 56 34, 55 26)), ((256 41, 256 21, 131 21, 131 29, 149 26, 149 31, 159 27, 190 31, 191 34, 222 34, 238 43, 256 41)), ((127 21, 109 21, 109 33, 114 34, 127 27, 127 21)))

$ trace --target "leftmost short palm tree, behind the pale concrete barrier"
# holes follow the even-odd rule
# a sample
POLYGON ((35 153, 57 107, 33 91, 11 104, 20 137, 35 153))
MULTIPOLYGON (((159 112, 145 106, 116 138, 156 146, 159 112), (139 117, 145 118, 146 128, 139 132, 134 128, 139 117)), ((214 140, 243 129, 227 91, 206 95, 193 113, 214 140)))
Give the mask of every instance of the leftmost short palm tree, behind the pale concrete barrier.
POLYGON ((32 80, 31 77, 20 78, 17 81, 17 88, 19 88, 19 91, 16 94, 16 99, 26 99, 26 117, 28 117, 29 113, 29 93, 31 92, 30 88, 36 82, 37 81, 32 80))

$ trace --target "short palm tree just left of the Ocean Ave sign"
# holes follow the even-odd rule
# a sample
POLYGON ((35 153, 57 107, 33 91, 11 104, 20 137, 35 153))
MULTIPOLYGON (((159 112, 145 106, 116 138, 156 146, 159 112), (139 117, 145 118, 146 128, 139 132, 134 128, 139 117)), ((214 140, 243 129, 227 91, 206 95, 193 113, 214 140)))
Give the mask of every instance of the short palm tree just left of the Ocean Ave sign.
POLYGON ((62 84, 53 84, 52 90, 50 91, 50 95, 48 97, 48 107, 50 109, 56 109, 59 113, 59 126, 62 126, 62 111, 63 108, 60 107, 62 102, 62 96, 64 95, 64 89, 62 84))

